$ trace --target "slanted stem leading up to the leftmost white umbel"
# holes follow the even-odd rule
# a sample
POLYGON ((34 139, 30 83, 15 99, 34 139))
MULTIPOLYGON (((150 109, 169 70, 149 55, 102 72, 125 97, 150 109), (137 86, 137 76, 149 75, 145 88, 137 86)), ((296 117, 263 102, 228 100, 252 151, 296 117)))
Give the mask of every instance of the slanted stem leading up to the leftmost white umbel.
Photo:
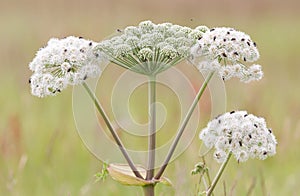
POLYGON ((111 122, 108 119, 108 116, 106 115, 106 113, 104 112, 102 106, 100 105, 97 97, 95 96, 95 94, 92 92, 92 90, 90 89, 90 87, 88 86, 87 83, 83 82, 83 87, 85 88, 85 90, 88 92, 89 96, 91 97, 91 99, 93 100, 98 112, 101 114, 106 126, 108 127, 110 133, 112 134, 115 142, 117 143, 119 149, 121 150, 124 158, 126 159, 129 167, 131 168, 132 172, 135 174, 136 177, 138 178, 143 178, 142 175, 140 174, 140 172, 137 170, 137 168, 135 167, 133 161, 131 160, 126 148, 124 147, 123 143, 121 142, 121 139, 119 138, 118 134, 116 133, 116 131, 114 130, 111 122))

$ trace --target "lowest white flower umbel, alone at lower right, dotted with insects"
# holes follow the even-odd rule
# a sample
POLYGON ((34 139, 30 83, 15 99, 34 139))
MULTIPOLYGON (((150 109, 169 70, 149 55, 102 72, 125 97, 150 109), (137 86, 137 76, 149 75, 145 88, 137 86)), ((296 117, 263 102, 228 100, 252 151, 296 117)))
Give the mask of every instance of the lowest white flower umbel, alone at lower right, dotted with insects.
POLYGON ((266 159, 276 153, 276 139, 263 118, 245 111, 227 112, 210 121, 200 133, 208 148, 215 148, 214 158, 223 162, 232 152, 239 162, 248 158, 266 159))

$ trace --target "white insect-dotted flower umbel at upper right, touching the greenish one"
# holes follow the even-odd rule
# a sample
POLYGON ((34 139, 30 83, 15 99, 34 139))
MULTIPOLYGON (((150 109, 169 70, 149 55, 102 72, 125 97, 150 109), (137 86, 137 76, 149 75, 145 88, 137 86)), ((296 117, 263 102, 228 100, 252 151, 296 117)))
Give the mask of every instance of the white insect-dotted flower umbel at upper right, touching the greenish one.
POLYGON ((256 43, 249 35, 232 28, 210 29, 192 47, 191 53, 200 71, 216 71, 223 80, 237 77, 250 82, 263 77, 260 65, 246 65, 259 58, 256 43))

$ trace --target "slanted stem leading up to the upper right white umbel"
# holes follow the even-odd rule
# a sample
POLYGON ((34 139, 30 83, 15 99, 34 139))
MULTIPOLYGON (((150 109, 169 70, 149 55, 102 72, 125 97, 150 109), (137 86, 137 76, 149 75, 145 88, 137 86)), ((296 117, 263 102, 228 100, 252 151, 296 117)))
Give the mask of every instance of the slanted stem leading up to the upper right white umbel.
POLYGON ((159 179, 162 176, 162 174, 164 173, 166 167, 168 166, 169 161, 170 161, 170 159, 171 159, 171 157, 172 157, 172 155, 173 155, 173 153, 174 153, 174 151, 176 149, 176 146, 177 146, 177 144, 179 142, 179 139, 181 138, 181 136, 183 134, 183 131, 185 130, 185 127, 186 127, 187 123, 189 122, 189 120, 190 120, 190 118, 191 118, 191 116, 193 114, 193 111, 195 110, 195 108, 196 108, 196 106, 197 106, 197 104, 198 104, 198 102, 199 102, 202 94, 204 93, 204 90, 206 89, 208 82, 212 78, 213 74, 214 74, 214 72, 210 72, 209 75, 207 76, 207 78, 205 79, 204 83, 202 84, 202 86, 201 86, 198 94, 196 95, 196 97, 195 97, 195 99, 194 99, 194 101, 193 101, 193 103, 192 103, 189 111, 187 112, 187 114, 186 114, 186 116, 185 116, 185 118, 183 120, 183 123, 182 123, 181 127, 177 131, 177 135, 176 135, 176 137, 175 137, 175 139, 174 139, 174 141, 172 143, 172 146, 171 146, 171 148, 170 148, 170 150, 169 150, 169 152, 167 154, 167 157, 166 157, 166 159, 165 159, 165 161, 163 163, 163 166, 160 168, 160 170, 156 174, 155 179, 159 179))

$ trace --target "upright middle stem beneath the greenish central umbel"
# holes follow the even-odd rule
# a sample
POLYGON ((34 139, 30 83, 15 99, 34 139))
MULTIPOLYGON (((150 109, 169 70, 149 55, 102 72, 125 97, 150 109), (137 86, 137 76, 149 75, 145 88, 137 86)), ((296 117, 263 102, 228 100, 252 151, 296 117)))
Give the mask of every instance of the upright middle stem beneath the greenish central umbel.
POLYGON ((149 77, 148 81, 148 108, 149 108, 149 135, 148 135, 148 167, 146 180, 154 177, 155 146, 156 146, 156 81, 155 76, 149 77))

